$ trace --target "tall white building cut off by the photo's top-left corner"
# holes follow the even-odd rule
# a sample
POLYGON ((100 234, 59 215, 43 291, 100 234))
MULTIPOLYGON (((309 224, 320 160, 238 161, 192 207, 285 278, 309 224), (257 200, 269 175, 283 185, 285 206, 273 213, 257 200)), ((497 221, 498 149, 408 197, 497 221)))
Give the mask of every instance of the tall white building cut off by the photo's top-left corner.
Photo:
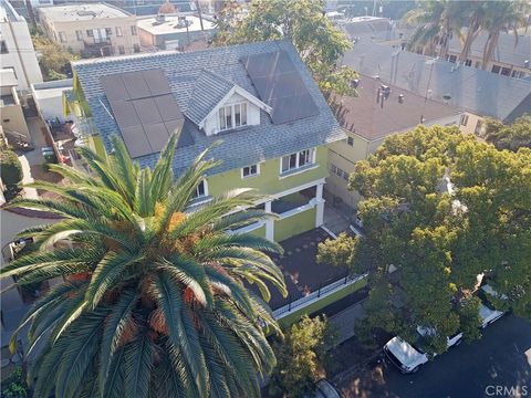
POLYGON ((42 82, 28 23, 7 0, 0 0, 0 67, 14 72, 19 91, 42 82))

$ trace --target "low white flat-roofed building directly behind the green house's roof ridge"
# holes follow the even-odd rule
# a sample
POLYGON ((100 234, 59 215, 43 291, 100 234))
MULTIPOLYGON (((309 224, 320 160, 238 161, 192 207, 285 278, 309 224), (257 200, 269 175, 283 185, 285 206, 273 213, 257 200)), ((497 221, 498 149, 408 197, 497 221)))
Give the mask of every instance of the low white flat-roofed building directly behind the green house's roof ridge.
POLYGON ((140 44, 147 49, 181 50, 216 33, 216 22, 195 15, 158 14, 137 21, 140 44))

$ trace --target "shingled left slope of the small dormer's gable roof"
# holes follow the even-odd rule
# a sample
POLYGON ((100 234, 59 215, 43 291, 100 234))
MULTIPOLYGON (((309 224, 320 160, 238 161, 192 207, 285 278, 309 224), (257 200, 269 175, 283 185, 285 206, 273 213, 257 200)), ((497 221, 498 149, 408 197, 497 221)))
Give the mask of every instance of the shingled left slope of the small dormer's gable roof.
POLYGON ((233 86, 235 83, 204 69, 194 84, 186 116, 195 124, 201 123, 233 86))

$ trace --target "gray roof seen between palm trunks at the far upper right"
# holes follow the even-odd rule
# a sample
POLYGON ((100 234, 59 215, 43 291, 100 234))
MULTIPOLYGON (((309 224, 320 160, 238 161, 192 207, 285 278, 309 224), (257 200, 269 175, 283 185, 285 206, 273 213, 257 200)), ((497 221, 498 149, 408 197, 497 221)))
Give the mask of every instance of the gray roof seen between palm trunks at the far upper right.
MULTIPOLYGON (((483 33, 476 38, 472 42, 470 54, 475 57, 482 59, 485 43, 488 34, 483 33)), ((519 35, 518 44, 516 45, 516 36, 512 33, 500 33, 498 38, 498 45, 496 46, 493 61, 525 67, 525 61, 531 62, 531 35, 519 35)), ((461 51, 461 43, 459 38, 454 36, 450 41, 450 51, 459 53, 461 51)))

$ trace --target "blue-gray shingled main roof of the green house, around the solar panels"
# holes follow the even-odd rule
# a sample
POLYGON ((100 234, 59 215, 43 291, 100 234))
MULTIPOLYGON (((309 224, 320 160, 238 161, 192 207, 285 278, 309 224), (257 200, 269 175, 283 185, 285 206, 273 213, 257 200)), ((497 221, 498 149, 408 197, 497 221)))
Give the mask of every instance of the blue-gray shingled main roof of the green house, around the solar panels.
MULTIPOLYGON (((194 106, 197 102, 194 98, 196 82, 200 76, 201 78, 207 76, 204 67, 208 67, 225 80, 259 97, 241 63, 241 59, 278 51, 285 51, 289 54, 317 106, 319 114, 275 125, 271 122, 270 116, 261 111, 260 125, 247 126, 214 136, 206 136, 190 118, 185 118, 183 130, 191 135, 194 145, 176 150, 174 166, 176 174, 180 174, 200 151, 221 138, 223 143, 209 153, 214 158, 222 160, 222 164, 212 171, 217 174, 325 145, 345 137, 317 85, 290 42, 269 41, 190 53, 162 52, 87 60, 74 62, 73 69, 83 87, 94 123, 107 151, 110 151, 112 149, 110 137, 119 135, 121 132, 108 112, 111 109, 110 103, 100 84, 102 76, 113 73, 162 69, 168 77, 179 108, 188 116, 194 114, 190 106, 194 106)), ((217 84, 222 83, 218 81, 217 84)), ((197 116, 191 117, 197 118, 197 116)), ((142 166, 153 167, 157 158, 158 154, 152 154, 138 157, 136 160, 142 166)))

